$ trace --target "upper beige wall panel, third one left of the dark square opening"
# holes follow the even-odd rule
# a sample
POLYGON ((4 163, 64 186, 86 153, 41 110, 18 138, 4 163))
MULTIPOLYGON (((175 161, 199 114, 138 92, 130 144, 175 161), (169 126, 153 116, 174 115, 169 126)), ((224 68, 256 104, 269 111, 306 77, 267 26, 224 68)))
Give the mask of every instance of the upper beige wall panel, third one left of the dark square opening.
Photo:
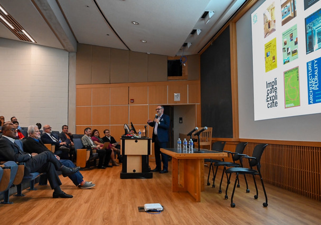
POLYGON ((110 83, 127 83, 129 51, 111 49, 110 54, 110 83))

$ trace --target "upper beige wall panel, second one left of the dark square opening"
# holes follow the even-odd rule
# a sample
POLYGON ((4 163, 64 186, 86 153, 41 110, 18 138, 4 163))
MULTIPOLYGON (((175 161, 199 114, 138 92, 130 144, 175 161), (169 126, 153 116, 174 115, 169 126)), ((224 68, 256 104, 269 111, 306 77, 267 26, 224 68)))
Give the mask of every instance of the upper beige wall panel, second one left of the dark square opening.
POLYGON ((147 82, 146 53, 129 52, 129 82, 147 82))

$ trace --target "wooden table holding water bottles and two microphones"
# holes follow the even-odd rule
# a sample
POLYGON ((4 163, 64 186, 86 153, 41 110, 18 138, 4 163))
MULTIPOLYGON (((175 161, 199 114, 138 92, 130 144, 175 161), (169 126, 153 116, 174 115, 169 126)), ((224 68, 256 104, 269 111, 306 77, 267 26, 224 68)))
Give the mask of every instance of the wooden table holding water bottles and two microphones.
POLYGON ((172 157, 172 192, 189 192, 197 202, 204 191, 204 158, 226 158, 226 152, 201 149, 204 153, 183 153, 182 150, 164 148, 161 152, 172 157))

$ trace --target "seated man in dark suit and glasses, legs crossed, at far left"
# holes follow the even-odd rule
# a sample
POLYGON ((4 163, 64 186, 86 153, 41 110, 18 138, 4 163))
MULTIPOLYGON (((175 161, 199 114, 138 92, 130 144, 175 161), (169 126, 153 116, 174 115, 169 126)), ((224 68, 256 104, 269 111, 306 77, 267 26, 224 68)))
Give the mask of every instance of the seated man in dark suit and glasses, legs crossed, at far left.
POLYGON ((24 162, 24 173, 46 173, 51 189, 54 189, 53 198, 72 198, 60 189, 61 181, 56 173, 56 170, 62 172, 63 176, 69 176, 76 173, 80 167, 69 168, 62 165, 56 157, 50 152, 26 153, 23 152, 19 146, 14 143, 17 129, 13 127, 12 123, 4 124, 2 127, 2 137, 0 139, 0 161, 15 161, 24 162))

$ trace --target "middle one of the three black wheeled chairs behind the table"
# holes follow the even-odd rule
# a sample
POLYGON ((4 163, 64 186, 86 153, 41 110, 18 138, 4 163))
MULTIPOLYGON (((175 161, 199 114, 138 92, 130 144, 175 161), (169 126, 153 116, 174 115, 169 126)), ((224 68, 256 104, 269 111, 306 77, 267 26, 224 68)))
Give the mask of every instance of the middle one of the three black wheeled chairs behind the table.
MULTIPOLYGON (((236 146, 235 152, 223 151, 223 152, 227 152, 228 154, 231 154, 231 155, 232 155, 232 160, 233 160, 233 162, 220 161, 220 162, 214 163, 213 166, 216 166, 216 172, 217 172, 217 168, 218 168, 219 166, 224 166, 223 172, 222 172, 222 177, 221 177, 221 182, 220 182, 220 189, 219 189, 219 193, 220 193, 220 194, 222 193, 221 186, 222 186, 222 181, 223 181, 223 177, 224 177, 224 173, 225 173, 226 167, 243 167, 242 158, 241 158, 241 155, 240 155, 240 154, 243 154, 243 151, 244 151, 245 147, 247 146, 247 143, 248 143, 248 142, 240 142, 240 143, 236 146), (236 163, 236 161, 238 161, 238 160, 239 160, 239 162, 240 162, 239 164, 236 163)), ((216 173, 215 173, 214 178, 215 178, 215 177, 216 177, 216 173)), ((226 178, 227 178, 227 180, 229 179, 227 174, 226 174, 226 178)), ((247 180, 246 180, 245 174, 244 174, 244 179, 245 179, 246 189, 247 189, 247 193, 248 193, 249 190, 248 190, 248 185, 247 185, 247 180)), ((212 185, 212 187, 215 187, 215 179, 213 180, 213 185, 212 185)), ((240 187, 239 180, 238 180, 238 185, 237 185, 237 187, 238 187, 238 188, 240 187)))

